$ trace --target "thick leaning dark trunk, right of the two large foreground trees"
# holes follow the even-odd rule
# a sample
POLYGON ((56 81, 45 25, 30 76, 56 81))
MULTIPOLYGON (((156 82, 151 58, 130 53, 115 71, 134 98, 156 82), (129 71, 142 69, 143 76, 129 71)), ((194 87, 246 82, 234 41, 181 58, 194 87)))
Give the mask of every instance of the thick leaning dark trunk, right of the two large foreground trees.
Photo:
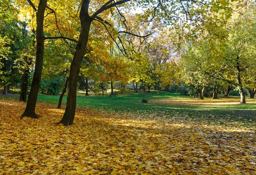
POLYGON ((60 122, 57 124, 63 124, 68 126, 74 123, 74 116, 76 111, 76 85, 77 79, 80 71, 80 65, 83 60, 83 55, 85 53, 85 47, 88 42, 88 36, 90 31, 91 19, 88 15, 89 0, 83 0, 81 4, 80 20, 81 20, 81 31, 79 35, 79 40, 76 45, 76 51, 74 58, 70 66, 70 80, 69 89, 67 95, 67 106, 65 113, 60 122))

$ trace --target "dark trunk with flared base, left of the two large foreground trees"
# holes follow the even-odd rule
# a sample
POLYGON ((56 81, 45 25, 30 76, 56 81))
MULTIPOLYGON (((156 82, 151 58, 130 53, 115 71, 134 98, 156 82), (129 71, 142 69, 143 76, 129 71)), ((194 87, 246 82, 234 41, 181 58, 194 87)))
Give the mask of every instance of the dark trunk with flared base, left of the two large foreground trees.
POLYGON ((38 9, 36 12, 36 64, 34 70, 34 77, 31 84, 31 89, 29 92, 29 97, 27 100, 27 106, 24 113, 21 115, 21 119, 25 116, 31 118, 39 118, 36 115, 36 100, 38 91, 40 88, 41 76, 43 71, 43 57, 44 57, 44 34, 43 34, 43 22, 44 14, 46 8, 47 0, 40 0, 38 4, 38 9))

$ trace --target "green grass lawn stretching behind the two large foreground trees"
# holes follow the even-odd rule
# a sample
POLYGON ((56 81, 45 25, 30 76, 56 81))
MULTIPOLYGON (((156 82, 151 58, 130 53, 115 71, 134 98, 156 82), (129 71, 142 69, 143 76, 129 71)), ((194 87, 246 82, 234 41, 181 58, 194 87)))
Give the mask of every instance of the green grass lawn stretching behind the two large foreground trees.
MULTIPOLYGON (((3 98, 2 95, 0 98, 3 98)), ((11 98, 18 100, 19 95, 11 95, 11 98)), ((59 95, 38 95, 38 102, 58 104, 59 95)), ((67 97, 63 98, 63 107, 67 97)), ((256 122, 256 100, 247 98, 246 104, 239 104, 239 97, 223 97, 219 95, 219 100, 211 100, 209 97, 205 100, 199 100, 168 92, 139 92, 128 91, 117 96, 85 96, 78 93, 77 106, 88 107, 98 110, 109 110, 119 112, 133 112, 156 114, 164 117, 189 117, 195 119, 222 119, 241 122, 241 125, 256 122), (147 100, 148 103, 141 103, 141 100, 147 100)), ((225 122, 224 122, 225 123, 225 122)))

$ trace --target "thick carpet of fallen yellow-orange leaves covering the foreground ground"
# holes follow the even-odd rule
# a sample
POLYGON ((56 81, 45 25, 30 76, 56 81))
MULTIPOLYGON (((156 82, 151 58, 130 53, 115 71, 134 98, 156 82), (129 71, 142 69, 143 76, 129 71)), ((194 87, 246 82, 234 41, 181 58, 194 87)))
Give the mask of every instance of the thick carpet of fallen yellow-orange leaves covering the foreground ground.
POLYGON ((25 103, 0 106, 0 174, 256 174, 251 123, 79 108, 65 127, 53 124, 64 110, 51 104, 37 104, 40 119, 22 120, 25 103))

